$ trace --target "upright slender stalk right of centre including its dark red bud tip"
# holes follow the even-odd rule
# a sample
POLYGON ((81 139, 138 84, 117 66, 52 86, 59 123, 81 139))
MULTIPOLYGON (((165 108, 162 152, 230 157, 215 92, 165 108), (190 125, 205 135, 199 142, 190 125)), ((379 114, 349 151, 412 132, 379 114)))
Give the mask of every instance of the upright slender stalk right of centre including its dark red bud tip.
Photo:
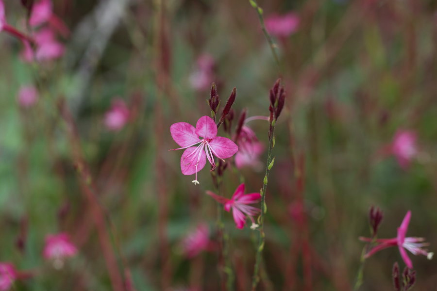
POLYGON ((266 190, 267 190, 267 183, 269 181, 269 173, 275 160, 275 158, 272 157, 272 151, 275 145, 275 124, 276 124, 276 120, 278 119, 279 115, 282 112, 282 109, 284 108, 284 103, 285 103, 285 90, 284 90, 284 86, 279 88, 280 83, 281 83, 281 79, 278 79, 276 83, 273 85, 273 88, 270 89, 269 151, 267 154, 266 176, 264 176, 263 189, 261 190, 261 215, 258 217, 258 224, 259 224, 258 229, 260 231, 260 235, 259 235, 258 249, 256 251, 255 267, 253 270, 252 291, 256 290, 256 286, 258 285, 260 279, 258 274, 262 261, 261 255, 265 243, 264 216, 267 212, 266 190))

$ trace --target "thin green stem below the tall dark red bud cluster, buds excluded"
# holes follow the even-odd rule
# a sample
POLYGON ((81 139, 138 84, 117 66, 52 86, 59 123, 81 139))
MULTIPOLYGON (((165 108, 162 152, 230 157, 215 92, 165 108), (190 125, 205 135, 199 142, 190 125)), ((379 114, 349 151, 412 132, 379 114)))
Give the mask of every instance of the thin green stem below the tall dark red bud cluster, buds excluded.
POLYGON ((266 205, 266 190, 267 190, 267 182, 269 179, 269 173, 270 173, 270 163, 272 160, 271 152, 273 150, 273 141, 275 138, 275 126, 271 125, 271 135, 270 135, 270 142, 269 142, 269 153, 267 155, 267 165, 266 165, 266 176, 264 177, 264 184, 263 184, 263 190, 261 193, 261 215, 258 219, 259 221, 259 243, 258 243, 258 249, 256 252, 256 260, 255 260, 255 268, 253 270, 253 279, 252 279, 252 291, 256 290, 256 285, 258 285, 259 282, 259 268, 261 264, 261 254, 264 249, 264 243, 265 243, 265 234, 264 234, 264 215, 267 212, 267 205, 266 205))

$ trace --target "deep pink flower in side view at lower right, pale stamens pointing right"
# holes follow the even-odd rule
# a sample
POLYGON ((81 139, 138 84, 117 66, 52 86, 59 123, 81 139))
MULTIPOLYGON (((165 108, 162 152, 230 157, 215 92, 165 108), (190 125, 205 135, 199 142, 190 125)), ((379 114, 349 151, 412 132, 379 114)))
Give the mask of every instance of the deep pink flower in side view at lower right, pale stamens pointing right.
MULTIPOLYGON (((428 259, 432 259, 434 253, 428 253, 428 250, 422 249, 423 246, 429 245, 429 243, 424 242, 425 241, 424 238, 405 237, 405 234, 408 230, 408 225, 410 223, 410 219, 411 219, 411 210, 408 210, 405 217, 403 218, 401 226, 398 227, 397 237, 392 239, 377 239, 376 242, 380 242, 380 243, 375 247, 373 247, 370 250, 370 252, 365 255, 365 258, 369 258, 371 255, 387 247, 398 246, 399 252, 401 253, 401 257, 405 262, 405 265, 407 265, 408 268, 410 269, 413 269, 413 263, 411 262, 411 259, 408 257, 408 254, 405 251, 406 249, 409 250, 413 255, 416 256, 424 255, 428 259)), ((360 237, 360 240, 364 242, 372 241, 371 238, 363 238, 363 237, 360 237)))

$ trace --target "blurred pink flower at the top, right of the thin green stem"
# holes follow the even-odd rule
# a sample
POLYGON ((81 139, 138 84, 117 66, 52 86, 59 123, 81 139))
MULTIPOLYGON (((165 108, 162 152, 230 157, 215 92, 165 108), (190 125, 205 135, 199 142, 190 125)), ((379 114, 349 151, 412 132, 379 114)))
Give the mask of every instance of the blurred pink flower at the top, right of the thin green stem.
POLYGON ((264 22, 270 34, 286 37, 296 32, 300 21, 301 19, 297 14, 290 12, 283 16, 277 14, 270 15, 264 22))

